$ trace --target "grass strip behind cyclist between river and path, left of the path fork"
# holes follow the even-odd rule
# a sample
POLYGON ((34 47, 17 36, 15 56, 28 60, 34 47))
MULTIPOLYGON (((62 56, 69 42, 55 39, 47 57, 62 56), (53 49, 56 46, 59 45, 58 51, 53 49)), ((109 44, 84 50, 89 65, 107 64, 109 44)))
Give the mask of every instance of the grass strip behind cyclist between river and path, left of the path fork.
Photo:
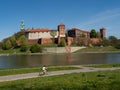
MULTIPOLYGON (((71 67, 70 66, 50 66, 50 67, 47 67, 48 71, 74 70, 74 69, 80 69, 80 68, 72 67, 72 66, 71 67)), ((0 76, 25 74, 25 73, 33 73, 33 72, 42 72, 41 67, 0 69, 0 76)))

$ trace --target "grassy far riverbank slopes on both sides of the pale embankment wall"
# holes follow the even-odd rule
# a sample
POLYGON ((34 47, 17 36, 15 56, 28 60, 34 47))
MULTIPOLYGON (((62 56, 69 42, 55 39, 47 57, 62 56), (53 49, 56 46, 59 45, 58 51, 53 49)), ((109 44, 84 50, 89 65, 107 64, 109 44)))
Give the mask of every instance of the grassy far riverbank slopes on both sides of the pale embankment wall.
MULTIPOLYGON (((112 46, 108 47, 86 47, 83 49, 80 49, 78 51, 75 51, 75 53, 106 53, 106 52, 120 52, 120 49, 116 49, 112 46)), ((36 54, 36 53, 30 53, 30 52, 20 52, 20 49, 10 49, 10 50, 0 50, 1 55, 14 55, 14 54, 36 54)), ((42 53, 37 53, 42 54, 42 53)))

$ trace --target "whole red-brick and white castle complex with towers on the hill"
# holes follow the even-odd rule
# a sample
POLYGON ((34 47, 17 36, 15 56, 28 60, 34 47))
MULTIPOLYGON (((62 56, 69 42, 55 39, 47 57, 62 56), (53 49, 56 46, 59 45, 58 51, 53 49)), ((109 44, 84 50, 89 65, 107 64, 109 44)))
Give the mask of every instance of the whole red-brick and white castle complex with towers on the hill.
MULTIPOLYGON (((21 23, 21 30, 24 29, 24 23, 21 23)), ((25 29, 24 29, 25 30, 25 29)), ((64 24, 59 24, 57 30, 49 30, 48 28, 37 28, 37 29, 27 29, 25 30, 25 36, 28 39, 29 44, 39 43, 39 44, 49 44, 57 43, 59 44, 61 38, 64 38, 67 45, 71 43, 84 43, 88 45, 90 42, 97 43, 101 39, 105 38, 105 28, 100 29, 100 38, 90 38, 90 32, 86 30, 81 30, 78 28, 71 28, 69 30, 65 29, 64 24), (54 32, 54 35, 51 33, 54 32), (53 42, 53 38, 55 41, 53 42)))

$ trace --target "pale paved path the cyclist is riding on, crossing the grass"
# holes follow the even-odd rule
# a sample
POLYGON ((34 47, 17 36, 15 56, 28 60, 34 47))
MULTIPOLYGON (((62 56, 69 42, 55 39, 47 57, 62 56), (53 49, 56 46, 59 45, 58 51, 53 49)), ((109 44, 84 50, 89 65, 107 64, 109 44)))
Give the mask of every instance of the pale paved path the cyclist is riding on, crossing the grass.
POLYGON ((74 67, 79 67, 80 69, 52 71, 52 72, 48 72, 48 74, 44 75, 44 76, 38 76, 38 73, 0 76, 0 82, 19 80, 19 79, 27 79, 27 78, 35 78, 35 77, 45 77, 45 76, 54 76, 54 75, 62 75, 62 74, 79 73, 79 72, 93 72, 93 71, 118 70, 118 69, 120 70, 120 67, 119 68, 93 68, 93 67, 83 67, 83 66, 74 66, 74 67))

